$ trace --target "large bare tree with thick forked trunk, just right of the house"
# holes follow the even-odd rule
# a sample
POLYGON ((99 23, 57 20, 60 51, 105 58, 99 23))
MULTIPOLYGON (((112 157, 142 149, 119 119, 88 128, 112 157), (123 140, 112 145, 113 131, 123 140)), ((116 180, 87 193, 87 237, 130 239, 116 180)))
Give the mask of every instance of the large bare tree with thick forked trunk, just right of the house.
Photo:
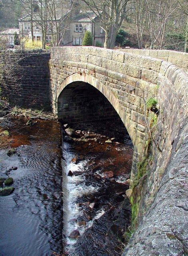
POLYGON ((126 17, 129 0, 83 0, 98 16, 99 25, 105 32, 104 48, 114 48, 118 30, 126 17))

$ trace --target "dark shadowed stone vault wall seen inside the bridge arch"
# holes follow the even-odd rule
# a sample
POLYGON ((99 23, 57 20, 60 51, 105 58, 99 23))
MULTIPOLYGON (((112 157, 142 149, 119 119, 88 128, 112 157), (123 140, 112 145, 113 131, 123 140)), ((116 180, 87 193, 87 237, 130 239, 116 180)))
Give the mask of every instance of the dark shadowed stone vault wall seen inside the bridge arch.
POLYGON ((58 120, 64 123, 119 119, 118 113, 107 98, 86 82, 68 84, 58 97, 58 120))

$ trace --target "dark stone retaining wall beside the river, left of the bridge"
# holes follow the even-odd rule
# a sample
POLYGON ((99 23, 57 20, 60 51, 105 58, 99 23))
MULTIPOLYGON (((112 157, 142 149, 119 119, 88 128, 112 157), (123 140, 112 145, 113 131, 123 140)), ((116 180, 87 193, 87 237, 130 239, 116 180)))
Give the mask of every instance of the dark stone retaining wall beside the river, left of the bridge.
POLYGON ((6 65, 0 77, 3 96, 14 106, 50 111, 50 53, 25 50, 0 54, 6 65))

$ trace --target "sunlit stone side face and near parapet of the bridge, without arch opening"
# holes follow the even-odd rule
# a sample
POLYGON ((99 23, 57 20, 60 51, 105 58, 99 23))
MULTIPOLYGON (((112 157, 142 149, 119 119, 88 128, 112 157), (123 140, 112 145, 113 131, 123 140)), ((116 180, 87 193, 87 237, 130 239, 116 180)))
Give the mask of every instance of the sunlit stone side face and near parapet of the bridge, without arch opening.
POLYGON ((72 82, 97 88, 114 106, 134 144, 131 179, 148 139, 140 86, 158 86, 163 122, 154 131, 162 153, 152 145, 148 172, 133 194, 138 229, 124 255, 186 255, 186 148, 188 76, 172 63, 95 47, 53 48, 50 88, 53 112, 72 82))

